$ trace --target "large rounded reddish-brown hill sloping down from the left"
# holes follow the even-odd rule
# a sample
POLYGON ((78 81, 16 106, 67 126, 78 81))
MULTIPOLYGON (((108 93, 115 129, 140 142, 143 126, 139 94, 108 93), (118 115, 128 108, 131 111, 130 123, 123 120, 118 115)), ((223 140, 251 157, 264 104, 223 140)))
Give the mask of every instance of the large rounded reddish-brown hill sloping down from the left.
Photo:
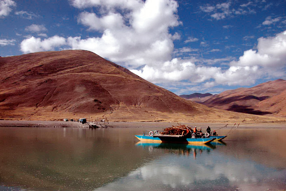
POLYGON ((185 100, 85 50, 1 57, 0 70, 0 118, 4 119, 104 115, 110 120, 150 121, 257 118, 185 100))

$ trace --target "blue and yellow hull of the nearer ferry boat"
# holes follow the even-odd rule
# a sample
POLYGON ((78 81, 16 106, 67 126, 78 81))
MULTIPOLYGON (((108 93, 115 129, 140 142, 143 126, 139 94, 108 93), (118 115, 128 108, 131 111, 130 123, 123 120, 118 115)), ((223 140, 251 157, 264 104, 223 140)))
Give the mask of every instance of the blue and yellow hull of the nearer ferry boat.
POLYGON ((140 141, 152 143, 183 143, 183 144, 207 144, 217 138, 188 138, 184 135, 135 135, 140 141))

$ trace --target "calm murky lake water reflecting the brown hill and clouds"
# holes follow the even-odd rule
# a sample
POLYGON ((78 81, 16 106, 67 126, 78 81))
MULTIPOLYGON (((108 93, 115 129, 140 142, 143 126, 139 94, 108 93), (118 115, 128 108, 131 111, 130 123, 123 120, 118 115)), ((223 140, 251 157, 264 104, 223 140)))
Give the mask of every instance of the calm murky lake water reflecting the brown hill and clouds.
POLYGON ((285 129, 211 145, 138 142, 144 130, 0 127, 0 190, 286 189, 285 129))

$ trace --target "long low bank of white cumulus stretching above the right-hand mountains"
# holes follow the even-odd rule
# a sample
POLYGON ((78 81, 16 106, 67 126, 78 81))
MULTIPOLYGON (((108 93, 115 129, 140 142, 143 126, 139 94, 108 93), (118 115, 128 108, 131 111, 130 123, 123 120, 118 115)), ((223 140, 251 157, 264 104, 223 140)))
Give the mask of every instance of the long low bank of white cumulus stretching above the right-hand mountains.
MULTIPOLYGON (((207 86, 250 85, 263 76, 279 77, 284 74, 281 71, 286 65, 286 31, 275 37, 259 38, 257 50, 246 50, 238 61, 228 57, 217 62, 223 61, 230 61, 229 68, 223 70, 221 67, 201 67, 187 59, 173 59, 157 67, 146 65, 132 72, 155 83, 168 80, 201 83, 211 80, 213 83, 206 83, 207 86)), ((214 60, 204 62, 215 63, 214 60)))

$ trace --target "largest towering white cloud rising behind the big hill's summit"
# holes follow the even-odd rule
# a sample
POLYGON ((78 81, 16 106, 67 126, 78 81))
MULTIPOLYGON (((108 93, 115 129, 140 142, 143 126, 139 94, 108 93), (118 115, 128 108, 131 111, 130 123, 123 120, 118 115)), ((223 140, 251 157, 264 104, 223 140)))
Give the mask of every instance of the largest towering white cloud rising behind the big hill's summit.
POLYGON ((178 33, 169 34, 170 28, 181 24, 176 15, 176 1, 74 0, 72 3, 75 7, 96 6, 108 10, 80 13, 78 22, 88 30, 101 32, 102 36, 69 37, 72 49, 90 50, 113 62, 128 63, 135 68, 171 59, 173 40, 180 38, 178 33))

